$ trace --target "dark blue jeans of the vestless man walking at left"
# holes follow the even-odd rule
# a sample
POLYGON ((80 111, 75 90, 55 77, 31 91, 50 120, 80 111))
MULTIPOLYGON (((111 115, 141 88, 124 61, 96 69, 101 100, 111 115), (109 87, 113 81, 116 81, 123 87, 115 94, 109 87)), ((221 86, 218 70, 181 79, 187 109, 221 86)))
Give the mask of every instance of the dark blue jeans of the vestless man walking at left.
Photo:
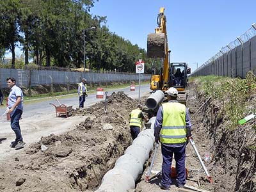
POLYGON ((22 141, 21 131, 20 131, 20 117, 22 115, 22 110, 14 109, 11 113, 11 127, 16 134, 15 141, 22 141))

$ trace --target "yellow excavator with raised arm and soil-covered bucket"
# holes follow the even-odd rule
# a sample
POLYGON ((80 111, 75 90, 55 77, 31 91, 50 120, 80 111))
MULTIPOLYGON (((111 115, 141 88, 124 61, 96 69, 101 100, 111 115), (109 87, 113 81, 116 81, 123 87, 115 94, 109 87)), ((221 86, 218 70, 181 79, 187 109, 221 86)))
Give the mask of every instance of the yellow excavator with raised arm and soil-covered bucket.
POLYGON ((179 92, 178 101, 186 104, 187 94, 185 88, 188 83, 188 74, 191 73, 191 70, 188 68, 187 63, 170 63, 170 52, 168 50, 166 17, 162 7, 157 16, 155 33, 150 33, 147 36, 148 58, 160 58, 161 60, 160 74, 152 73, 150 89, 152 91, 162 90, 165 92, 168 88, 175 87, 179 92))

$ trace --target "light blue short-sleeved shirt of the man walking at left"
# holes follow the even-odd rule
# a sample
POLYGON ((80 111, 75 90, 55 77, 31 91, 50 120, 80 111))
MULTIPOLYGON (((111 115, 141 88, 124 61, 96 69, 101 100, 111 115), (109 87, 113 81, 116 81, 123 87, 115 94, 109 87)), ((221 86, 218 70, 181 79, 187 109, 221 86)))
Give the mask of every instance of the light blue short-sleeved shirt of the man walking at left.
POLYGON ((19 86, 13 85, 11 88, 11 92, 8 97, 8 108, 12 108, 14 106, 15 102, 17 101, 17 97, 21 97, 21 102, 16 107, 17 109, 20 109, 23 111, 23 93, 22 90, 19 88, 19 86))

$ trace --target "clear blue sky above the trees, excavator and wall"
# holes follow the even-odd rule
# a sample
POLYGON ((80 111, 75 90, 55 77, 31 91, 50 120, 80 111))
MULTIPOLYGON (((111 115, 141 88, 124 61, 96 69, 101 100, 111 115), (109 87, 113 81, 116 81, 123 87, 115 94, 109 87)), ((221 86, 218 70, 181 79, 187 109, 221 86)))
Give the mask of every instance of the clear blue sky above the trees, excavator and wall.
POLYGON ((107 16, 111 32, 147 50, 147 34, 154 33, 161 7, 171 61, 184 61, 192 70, 256 22, 256 0, 99 0, 91 13, 107 16))

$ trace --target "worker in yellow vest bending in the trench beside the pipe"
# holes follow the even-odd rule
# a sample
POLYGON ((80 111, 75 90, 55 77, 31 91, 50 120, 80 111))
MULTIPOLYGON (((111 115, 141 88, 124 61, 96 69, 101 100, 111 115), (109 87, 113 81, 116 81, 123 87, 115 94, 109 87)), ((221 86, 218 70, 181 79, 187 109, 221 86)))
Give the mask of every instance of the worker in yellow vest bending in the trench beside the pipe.
POLYGON ((130 113, 130 129, 131 129, 131 135, 132 140, 135 140, 137 138, 138 134, 140 133, 140 128, 142 125, 142 120, 145 120, 147 122, 147 118, 145 118, 143 112, 141 111, 143 107, 141 104, 138 104, 137 108, 132 110, 130 113))

